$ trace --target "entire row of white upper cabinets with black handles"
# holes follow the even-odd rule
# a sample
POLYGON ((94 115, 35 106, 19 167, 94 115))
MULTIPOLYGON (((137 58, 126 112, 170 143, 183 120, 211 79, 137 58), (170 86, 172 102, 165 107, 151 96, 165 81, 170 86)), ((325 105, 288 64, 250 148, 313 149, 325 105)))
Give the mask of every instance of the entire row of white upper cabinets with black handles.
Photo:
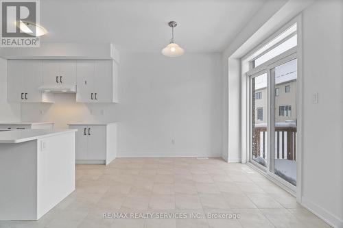
POLYGON ((114 60, 8 60, 8 101, 51 102, 76 86, 77 102, 114 103, 117 77, 114 60))

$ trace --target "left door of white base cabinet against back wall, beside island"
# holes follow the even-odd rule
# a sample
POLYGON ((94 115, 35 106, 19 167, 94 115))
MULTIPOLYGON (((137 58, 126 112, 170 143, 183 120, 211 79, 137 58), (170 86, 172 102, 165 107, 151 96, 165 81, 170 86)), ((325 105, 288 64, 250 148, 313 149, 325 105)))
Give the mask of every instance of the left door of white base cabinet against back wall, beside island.
POLYGON ((71 129, 78 129, 75 132, 75 160, 88 159, 88 126, 69 126, 71 129))

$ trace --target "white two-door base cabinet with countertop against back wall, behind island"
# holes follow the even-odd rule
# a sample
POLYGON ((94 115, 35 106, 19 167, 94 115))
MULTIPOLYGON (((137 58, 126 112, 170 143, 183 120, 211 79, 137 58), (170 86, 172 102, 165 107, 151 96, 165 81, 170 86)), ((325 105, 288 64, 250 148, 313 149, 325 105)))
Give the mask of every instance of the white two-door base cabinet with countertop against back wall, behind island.
POLYGON ((117 123, 71 123, 76 164, 109 164, 117 154, 117 123))

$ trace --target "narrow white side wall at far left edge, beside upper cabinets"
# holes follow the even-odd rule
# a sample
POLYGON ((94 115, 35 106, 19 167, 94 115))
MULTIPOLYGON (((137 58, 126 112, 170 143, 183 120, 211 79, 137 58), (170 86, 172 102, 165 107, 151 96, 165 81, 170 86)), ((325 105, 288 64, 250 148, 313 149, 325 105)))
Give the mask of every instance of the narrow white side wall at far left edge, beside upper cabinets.
POLYGON ((20 121, 20 105, 7 102, 7 60, 0 58, 0 122, 20 121))

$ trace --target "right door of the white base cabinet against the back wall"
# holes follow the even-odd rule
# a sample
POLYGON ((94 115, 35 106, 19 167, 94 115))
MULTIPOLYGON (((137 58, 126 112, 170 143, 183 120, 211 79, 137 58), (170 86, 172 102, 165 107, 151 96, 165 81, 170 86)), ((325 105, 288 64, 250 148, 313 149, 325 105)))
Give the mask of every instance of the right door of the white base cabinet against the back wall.
POLYGON ((106 126, 89 126, 87 134, 88 160, 106 160, 106 126))

